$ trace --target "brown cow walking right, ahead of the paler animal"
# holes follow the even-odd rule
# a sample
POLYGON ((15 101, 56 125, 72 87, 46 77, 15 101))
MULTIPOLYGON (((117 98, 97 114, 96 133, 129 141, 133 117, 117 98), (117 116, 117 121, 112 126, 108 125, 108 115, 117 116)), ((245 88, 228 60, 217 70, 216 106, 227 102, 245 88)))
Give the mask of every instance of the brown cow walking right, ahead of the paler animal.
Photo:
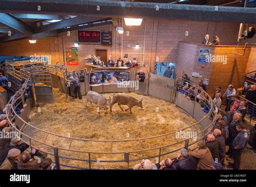
POLYGON ((115 103, 118 103, 118 106, 120 107, 120 109, 122 111, 123 108, 121 107, 121 105, 127 105, 129 108, 126 109, 125 111, 129 110, 130 109, 130 113, 132 113, 132 107, 133 106, 139 106, 143 109, 143 106, 142 106, 142 100, 138 100, 136 98, 133 98, 131 96, 125 96, 125 95, 122 95, 120 93, 117 93, 117 94, 114 94, 113 95, 113 99, 112 99, 112 103, 110 105, 110 112, 112 112, 112 106, 115 104, 115 103))

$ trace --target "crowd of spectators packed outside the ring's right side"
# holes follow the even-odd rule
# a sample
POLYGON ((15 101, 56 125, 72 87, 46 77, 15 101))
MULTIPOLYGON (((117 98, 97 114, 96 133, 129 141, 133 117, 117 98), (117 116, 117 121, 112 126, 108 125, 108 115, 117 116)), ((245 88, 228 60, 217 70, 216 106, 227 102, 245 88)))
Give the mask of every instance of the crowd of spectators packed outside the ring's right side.
MULTIPOLYGON (((186 74, 184 74, 182 78, 183 83, 179 84, 178 91, 183 93, 187 99, 197 99, 202 110, 208 113, 211 105, 208 103, 209 98, 207 98, 205 94, 206 87, 203 84, 203 81, 199 80, 197 87, 200 89, 196 89, 196 87, 192 86, 192 82, 186 74), (204 90, 205 92, 201 90, 204 90)), ((245 127, 245 116, 247 112, 251 112, 251 114, 256 113, 256 109, 253 107, 251 107, 250 110, 247 109, 247 106, 255 106, 254 104, 256 104, 255 88, 256 85, 250 85, 249 87, 244 88, 244 91, 246 92, 245 99, 240 100, 240 97, 237 95, 232 84, 228 85, 228 88, 225 90, 223 95, 221 94, 221 87, 216 87, 216 91, 212 95, 212 99, 213 109, 217 111, 217 115, 214 117, 208 117, 213 120, 214 131, 213 134, 209 134, 205 140, 205 147, 207 147, 211 152, 211 156, 208 156, 208 163, 214 160, 218 161, 221 166, 223 166, 226 154, 226 159, 230 161, 228 162, 230 167, 233 169, 239 169, 241 154, 250 138, 250 131, 245 127), (220 108, 223 98, 226 98, 225 111, 220 108), (227 152, 226 146, 229 147, 227 152)), ((203 145, 203 142, 200 142, 199 144, 203 145)), ((200 149, 200 146, 198 149, 200 149)), ((256 152, 255 147, 252 147, 252 149, 256 152)), ((206 150, 204 151, 204 154, 202 154, 203 151, 200 152, 200 155, 207 155, 206 150)), ((192 155, 196 156, 196 154, 192 155)), ((216 162, 212 163, 212 165, 215 167, 216 162)), ((198 169, 207 169, 207 167, 201 167, 199 164, 198 169)), ((210 167, 208 167, 208 169, 210 169, 210 167)), ((215 167, 215 169, 217 169, 217 167, 215 167)))

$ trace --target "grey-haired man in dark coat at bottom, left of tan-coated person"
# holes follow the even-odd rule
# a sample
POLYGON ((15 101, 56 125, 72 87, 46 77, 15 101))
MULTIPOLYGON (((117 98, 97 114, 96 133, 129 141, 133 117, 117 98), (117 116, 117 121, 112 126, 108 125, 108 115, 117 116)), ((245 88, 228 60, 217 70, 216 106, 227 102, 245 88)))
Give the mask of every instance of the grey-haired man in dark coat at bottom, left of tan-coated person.
POLYGON ((197 169, 196 161, 192 156, 188 155, 188 151, 185 148, 180 149, 180 155, 174 159, 173 168, 178 170, 194 170, 197 169))

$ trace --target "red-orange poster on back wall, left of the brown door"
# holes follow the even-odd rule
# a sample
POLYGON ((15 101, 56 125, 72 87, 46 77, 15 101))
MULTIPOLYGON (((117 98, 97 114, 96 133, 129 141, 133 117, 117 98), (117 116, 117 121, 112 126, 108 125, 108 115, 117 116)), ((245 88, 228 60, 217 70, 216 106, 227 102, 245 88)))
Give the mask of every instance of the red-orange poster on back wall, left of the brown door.
POLYGON ((65 47, 65 53, 67 66, 79 66, 78 47, 65 47))

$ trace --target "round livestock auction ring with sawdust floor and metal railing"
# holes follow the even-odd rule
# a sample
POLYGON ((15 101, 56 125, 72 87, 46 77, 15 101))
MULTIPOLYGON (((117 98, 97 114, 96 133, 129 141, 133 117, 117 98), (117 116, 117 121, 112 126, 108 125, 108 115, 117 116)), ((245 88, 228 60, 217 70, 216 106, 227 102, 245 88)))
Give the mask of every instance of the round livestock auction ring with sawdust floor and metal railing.
MULTIPOLYGON (((147 84, 150 90, 150 81, 147 84)), ((122 93, 143 99, 143 109, 134 106, 130 114, 116 104, 112 113, 105 114, 98 113, 95 104, 85 106, 86 96, 82 100, 66 100, 64 93, 53 89, 54 103, 31 107, 28 119, 16 114, 15 100, 10 100, 9 112, 12 110, 14 116, 8 115, 8 120, 11 126, 21 122, 19 130, 16 128, 21 139, 31 147, 43 148, 61 169, 93 169, 99 165, 116 169, 120 162, 132 167, 145 158, 152 162, 174 158, 182 147, 195 149, 197 141, 212 132, 212 121, 207 118, 214 116, 212 107, 204 113, 196 101, 174 92, 175 104, 156 96, 122 93), (183 136, 184 132, 194 132, 196 136, 183 136)), ((113 93, 103 95, 109 98, 113 93)), ((212 103, 210 97, 207 102, 212 103)))

